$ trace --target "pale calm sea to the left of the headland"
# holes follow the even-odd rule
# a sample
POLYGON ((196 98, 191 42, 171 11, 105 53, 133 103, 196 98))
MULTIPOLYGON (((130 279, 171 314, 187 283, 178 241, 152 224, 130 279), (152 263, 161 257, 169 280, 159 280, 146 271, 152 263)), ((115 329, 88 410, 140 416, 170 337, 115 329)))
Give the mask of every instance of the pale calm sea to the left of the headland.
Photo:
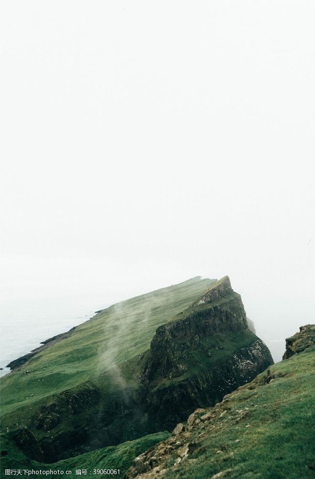
POLYGON ((87 321, 103 309, 104 297, 62 297, 1 301, 0 376, 14 359, 40 346, 40 342, 87 321))

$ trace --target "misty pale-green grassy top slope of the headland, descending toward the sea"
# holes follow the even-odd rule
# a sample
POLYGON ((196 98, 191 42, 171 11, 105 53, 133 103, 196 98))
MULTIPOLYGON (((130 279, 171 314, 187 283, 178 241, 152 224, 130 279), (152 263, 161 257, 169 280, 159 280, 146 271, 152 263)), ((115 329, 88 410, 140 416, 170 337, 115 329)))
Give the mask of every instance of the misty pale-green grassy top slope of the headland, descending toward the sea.
POLYGON ((114 364, 141 353, 149 347, 157 327, 187 308, 213 281, 197 277, 96 314, 68 338, 1 380, 1 414, 14 412, 10 422, 16 414, 19 423, 47 396, 96 378, 114 364))

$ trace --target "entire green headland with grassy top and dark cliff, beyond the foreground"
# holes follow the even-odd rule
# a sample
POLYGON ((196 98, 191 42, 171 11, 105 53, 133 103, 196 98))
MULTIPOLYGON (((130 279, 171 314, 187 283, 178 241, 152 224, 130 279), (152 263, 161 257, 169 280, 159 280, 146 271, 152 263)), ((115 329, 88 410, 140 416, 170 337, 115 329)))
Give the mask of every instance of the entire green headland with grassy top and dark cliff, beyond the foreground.
POLYGON ((31 459, 56 462, 172 430, 271 363, 228 277, 194 278, 111 306, 37 351, 2 381, 1 424, 12 437, 23 427, 31 459))

